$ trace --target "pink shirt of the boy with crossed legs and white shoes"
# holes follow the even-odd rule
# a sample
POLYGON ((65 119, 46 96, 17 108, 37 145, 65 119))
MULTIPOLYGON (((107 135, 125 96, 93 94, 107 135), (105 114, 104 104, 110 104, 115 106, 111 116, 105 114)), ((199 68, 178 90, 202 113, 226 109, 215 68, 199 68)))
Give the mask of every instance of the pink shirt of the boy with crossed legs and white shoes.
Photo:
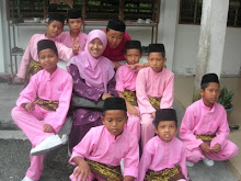
POLYGON ((57 68, 51 75, 46 70, 41 70, 31 78, 27 87, 20 93, 16 105, 28 103, 41 98, 44 100, 59 101, 56 111, 46 111, 38 104, 35 110, 48 113, 45 123, 50 124, 56 133, 59 132, 65 123, 69 110, 72 94, 72 77, 65 70, 57 68))

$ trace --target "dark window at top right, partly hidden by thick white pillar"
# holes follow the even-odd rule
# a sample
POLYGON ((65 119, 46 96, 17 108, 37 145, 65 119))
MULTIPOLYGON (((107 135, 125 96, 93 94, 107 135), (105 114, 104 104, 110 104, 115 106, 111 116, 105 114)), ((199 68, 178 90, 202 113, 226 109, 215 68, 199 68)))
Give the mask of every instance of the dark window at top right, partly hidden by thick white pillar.
MULTIPOLYGON (((181 0, 180 24, 200 24, 202 5, 203 0, 181 0)), ((241 0, 229 1, 227 25, 241 26, 241 0)))

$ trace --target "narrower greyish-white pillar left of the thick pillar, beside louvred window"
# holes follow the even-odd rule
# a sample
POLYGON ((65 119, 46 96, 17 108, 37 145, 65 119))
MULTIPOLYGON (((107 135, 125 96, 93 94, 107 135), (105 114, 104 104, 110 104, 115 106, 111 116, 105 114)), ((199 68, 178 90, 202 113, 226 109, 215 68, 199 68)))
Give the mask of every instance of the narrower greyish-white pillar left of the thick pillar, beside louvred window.
POLYGON ((172 70, 174 60, 179 3, 179 0, 161 0, 158 43, 163 43, 165 46, 167 67, 169 70, 172 70))

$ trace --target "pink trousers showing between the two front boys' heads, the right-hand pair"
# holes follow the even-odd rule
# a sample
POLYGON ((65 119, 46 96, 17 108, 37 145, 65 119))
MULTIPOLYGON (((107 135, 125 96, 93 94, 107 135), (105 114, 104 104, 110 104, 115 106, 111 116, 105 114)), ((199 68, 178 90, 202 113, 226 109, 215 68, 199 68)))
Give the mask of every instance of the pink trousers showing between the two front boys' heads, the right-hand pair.
POLYGON ((142 148, 147 144, 147 142, 154 136, 154 126, 152 124, 152 121, 153 117, 151 114, 141 114, 140 138, 142 148))

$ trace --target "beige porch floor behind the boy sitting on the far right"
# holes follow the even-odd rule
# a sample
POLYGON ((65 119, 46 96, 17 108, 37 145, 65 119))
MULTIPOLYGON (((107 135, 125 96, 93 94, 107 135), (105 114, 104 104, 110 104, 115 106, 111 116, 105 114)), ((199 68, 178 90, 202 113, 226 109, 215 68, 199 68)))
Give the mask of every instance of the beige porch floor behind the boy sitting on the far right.
MULTIPOLYGON (((233 111, 229 116, 229 123, 241 126, 241 78, 221 78, 220 84, 227 86, 228 89, 234 91, 233 111)), ((175 77, 175 100, 179 101, 184 108, 192 103, 194 90, 193 77, 175 77)), ((229 136, 230 140, 236 143, 241 148, 241 128, 232 131, 229 136)), ((230 167, 238 174, 241 180, 241 154, 231 158, 230 167)))

